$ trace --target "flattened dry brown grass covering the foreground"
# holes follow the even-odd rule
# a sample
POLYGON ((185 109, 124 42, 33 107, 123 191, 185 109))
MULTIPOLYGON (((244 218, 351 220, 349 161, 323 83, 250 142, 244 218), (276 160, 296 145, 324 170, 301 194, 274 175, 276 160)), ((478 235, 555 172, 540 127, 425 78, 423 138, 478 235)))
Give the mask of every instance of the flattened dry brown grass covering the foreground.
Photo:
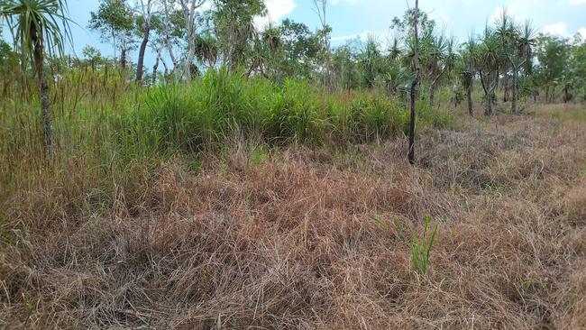
POLYGON ((92 178, 55 176, 9 206, 0 326, 583 329, 584 145, 583 124, 507 115, 423 133, 416 169, 401 141, 260 163, 236 141, 198 174, 133 178, 105 214, 81 206, 92 178), (392 220, 425 215, 418 276, 392 220))

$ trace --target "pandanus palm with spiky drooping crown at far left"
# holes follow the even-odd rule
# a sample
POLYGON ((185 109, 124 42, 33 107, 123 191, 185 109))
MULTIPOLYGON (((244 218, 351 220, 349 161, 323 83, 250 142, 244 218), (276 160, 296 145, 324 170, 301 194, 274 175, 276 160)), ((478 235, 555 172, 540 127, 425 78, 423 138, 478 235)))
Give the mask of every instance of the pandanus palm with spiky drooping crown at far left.
POLYGON ((43 144, 52 153, 49 85, 44 71, 45 54, 62 55, 64 42, 71 40, 67 4, 64 0, 1 0, 0 20, 13 32, 14 49, 22 56, 23 68, 32 60, 32 69, 39 80, 43 144))

